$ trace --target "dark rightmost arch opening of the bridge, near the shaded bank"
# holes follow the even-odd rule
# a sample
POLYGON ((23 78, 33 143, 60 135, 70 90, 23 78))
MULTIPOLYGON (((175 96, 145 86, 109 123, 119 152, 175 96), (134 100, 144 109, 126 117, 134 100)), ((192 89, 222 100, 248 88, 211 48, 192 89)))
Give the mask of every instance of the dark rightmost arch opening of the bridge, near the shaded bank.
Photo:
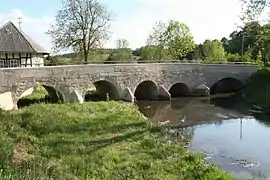
POLYGON ((210 88, 210 95, 235 93, 244 87, 244 83, 234 77, 226 77, 217 81, 210 88))

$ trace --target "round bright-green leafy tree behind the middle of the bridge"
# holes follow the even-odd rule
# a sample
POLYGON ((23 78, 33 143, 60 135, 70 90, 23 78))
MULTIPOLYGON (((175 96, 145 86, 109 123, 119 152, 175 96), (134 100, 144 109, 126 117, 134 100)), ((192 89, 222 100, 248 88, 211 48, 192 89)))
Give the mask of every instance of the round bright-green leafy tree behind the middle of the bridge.
POLYGON ((154 45, 159 50, 167 51, 170 59, 182 59, 195 48, 193 36, 189 28, 178 21, 168 24, 159 22, 153 27, 153 32, 147 40, 148 45, 154 45))

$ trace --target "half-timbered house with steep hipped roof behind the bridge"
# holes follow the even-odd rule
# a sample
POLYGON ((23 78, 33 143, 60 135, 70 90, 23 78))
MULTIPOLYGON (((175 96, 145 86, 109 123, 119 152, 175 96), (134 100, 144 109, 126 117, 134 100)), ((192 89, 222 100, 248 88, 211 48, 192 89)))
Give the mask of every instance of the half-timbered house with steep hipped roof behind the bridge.
POLYGON ((12 22, 0 28, 0 68, 44 66, 49 53, 12 22))

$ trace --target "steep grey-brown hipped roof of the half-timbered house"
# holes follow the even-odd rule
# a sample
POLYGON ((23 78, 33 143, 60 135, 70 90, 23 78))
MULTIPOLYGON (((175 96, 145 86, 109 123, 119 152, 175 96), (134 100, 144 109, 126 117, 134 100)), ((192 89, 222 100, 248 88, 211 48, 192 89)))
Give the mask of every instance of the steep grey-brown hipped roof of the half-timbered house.
POLYGON ((12 22, 0 28, 0 52, 48 53, 12 22))

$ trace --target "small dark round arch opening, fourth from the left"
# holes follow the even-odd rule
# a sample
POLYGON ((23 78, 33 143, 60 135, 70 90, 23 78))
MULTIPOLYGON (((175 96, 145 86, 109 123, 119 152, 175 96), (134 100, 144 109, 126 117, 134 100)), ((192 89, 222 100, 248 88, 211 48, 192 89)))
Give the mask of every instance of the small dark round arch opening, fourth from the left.
POLYGON ((190 88, 185 83, 175 83, 169 89, 172 98, 189 96, 190 88))

